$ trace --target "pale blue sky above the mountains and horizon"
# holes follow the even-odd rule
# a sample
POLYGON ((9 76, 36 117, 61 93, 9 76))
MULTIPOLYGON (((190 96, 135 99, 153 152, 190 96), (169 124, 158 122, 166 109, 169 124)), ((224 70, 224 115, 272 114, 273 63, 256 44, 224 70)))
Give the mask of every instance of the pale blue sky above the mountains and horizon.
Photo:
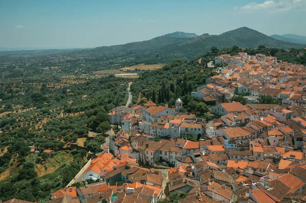
POLYGON ((306 36, 306 0, 2 0, 0 47, 83 48, 248 27, 306 36))

